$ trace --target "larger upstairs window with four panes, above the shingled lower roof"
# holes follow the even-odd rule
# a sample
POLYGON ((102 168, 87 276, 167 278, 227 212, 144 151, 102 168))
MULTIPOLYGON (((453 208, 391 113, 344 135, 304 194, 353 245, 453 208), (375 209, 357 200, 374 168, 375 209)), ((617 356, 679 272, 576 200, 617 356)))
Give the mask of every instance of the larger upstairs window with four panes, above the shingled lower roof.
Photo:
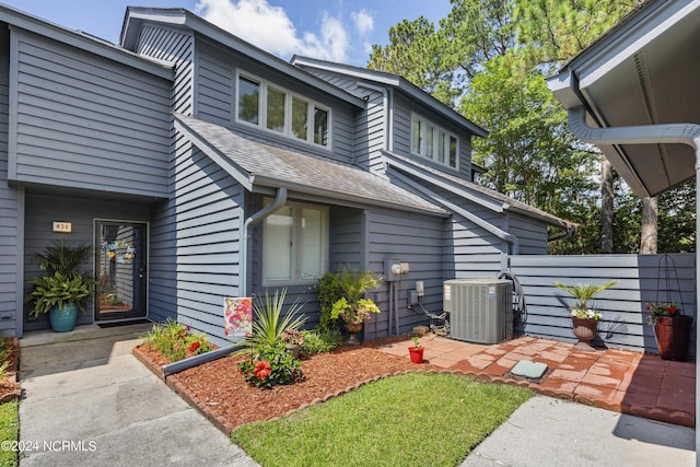
POLYGON ((330 109, 244 73, 236 81, 238 121, 330 148, 330 109))

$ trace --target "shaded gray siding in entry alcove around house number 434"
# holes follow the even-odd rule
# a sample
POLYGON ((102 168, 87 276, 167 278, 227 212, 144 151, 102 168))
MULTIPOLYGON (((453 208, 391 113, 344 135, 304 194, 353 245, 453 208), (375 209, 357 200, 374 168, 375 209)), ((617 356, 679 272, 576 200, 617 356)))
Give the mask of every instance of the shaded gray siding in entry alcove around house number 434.
MULTIPOLYGON (((117 220, 132 222, 149 222, 151 210, 148 205, 106 201, 88 198, 62 197, 56 195, 26 194, 25 237, 22 264, 24 270, 23 295, 31 289, 31 280, 44 272, 39 270, 36 254, 43 253, 55 241, 65 240, 71 244, 88 244, 94 246, 94 221, 117 220), (52 232, 55 221, 70 222, 72 231, 69 234, 52 232)), ((94 275, 92 260, 82 265, 80 270, 94 275)), ((26 319, 30 305, 24 307, 24 329, 47 329, 48 316, 43 315, 37 320, 26 319)), ((78 324, 90 324, 94 320, 94 299, 89 299, 85 313, 80 314, 78 324)))

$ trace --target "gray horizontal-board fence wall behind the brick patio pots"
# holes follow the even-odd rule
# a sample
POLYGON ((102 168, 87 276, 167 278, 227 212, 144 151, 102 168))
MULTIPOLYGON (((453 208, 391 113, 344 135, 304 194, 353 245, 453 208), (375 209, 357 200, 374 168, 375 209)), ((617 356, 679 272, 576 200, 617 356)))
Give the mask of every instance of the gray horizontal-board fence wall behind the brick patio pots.
MULTIPOLYGON (((665 270, 663 255, 511 256, 510 271, 522 283, 527 304, 525 324, 518 330, 573 342, 568 311, 573 299, 555 288, 553 282, 603 284, 619 280, 593 300, 603 313, 598 338, 608 347, 657 353, 654 330, 646 325, 646 304, 674 301, 684 313, 693 316, 697 308, 695 255, 674 254, 668 258, 665 270)), ((695 336, 693 330, 691 350, 696 348, 695 336)))

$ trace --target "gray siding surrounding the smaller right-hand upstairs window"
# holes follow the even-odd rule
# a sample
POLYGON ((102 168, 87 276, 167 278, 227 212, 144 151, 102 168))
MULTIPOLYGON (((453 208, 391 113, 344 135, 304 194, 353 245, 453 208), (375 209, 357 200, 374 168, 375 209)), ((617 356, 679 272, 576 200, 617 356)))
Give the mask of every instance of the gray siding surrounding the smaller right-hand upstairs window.
POLYGON ((471 135, 464 129, 459 129, 428 108, 416 105, 406 98, 401 93, 394 93, 394 152, 440 168, 450 174, 458 174, 467 180, 471 180, 471 135), (459 139, 459 171, 421 157, 411 153, 411 113, 416 113, 422 118, 432 121, 446 131, 450 131, 459 139))

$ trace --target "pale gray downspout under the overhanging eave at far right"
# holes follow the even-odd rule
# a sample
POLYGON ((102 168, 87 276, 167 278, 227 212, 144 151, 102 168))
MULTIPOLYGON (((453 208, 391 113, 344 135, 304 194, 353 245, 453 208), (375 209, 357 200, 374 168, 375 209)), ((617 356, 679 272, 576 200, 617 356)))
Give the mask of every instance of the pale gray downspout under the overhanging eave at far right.
MULTIPOLYGON (((569 126, 576 137, 593 144, 687 144, 696 152, 696 191, 700 191, 700 125, 667 124, 635 127, 592 128, 586 124, 583 107, 569 109, 569 126)), ((696 232, 700 231, 700 197, 696 200, 696 232)), ((697 241, 696 241, 697 242, 697 241)), ((696 308, 700 304, 700 248, 696 248, 696 308)), ((696 317, 696 358, 700 342, 700 326, 696 317)), ((696 365, 696 381, 700 381, 700 366, 696 365)), ((700 386, 696 387, 696 407, 700 407, 700 386)), ((696 431, 696 446, 700 445, 700 432, 696 431)), ((700 457, 697 465, 700 465, 700 457)))

